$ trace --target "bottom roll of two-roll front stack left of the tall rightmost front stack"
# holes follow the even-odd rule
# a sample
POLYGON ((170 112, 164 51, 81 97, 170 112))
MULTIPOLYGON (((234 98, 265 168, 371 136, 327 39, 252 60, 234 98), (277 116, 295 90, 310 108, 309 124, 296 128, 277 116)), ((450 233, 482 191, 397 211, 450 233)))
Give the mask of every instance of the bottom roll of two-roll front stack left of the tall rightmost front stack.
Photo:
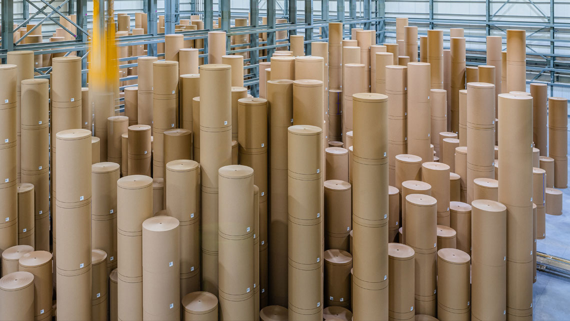
POLYGON ((477 319, 506 319, 506 267, 472 262, 471 314, 477 319))

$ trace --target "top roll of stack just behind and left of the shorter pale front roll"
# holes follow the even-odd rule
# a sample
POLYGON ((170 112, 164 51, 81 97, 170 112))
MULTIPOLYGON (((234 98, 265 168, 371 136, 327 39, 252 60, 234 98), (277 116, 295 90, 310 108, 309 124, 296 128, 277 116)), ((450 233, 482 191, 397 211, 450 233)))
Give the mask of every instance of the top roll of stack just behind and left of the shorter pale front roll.
POLYGON ((152 178, 129 175, 117 181, 117 210, 121 215, 117 228, 140 232, 146 218, 152 216, 152 178))

